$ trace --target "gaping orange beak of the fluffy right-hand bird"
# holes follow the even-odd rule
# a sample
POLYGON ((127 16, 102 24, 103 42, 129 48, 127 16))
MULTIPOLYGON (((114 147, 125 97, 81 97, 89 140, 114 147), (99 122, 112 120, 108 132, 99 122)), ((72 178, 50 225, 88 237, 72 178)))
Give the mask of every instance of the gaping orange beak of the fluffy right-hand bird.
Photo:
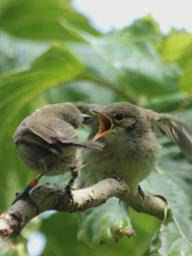
POLYGON ((93 138, 93 141, 95 141, 98 140, 98 138, 104 137, 109 134, 112 131, 114 125, 112 120, 108 118, 108 116, 105 116, 104 113, 102 113, 101 111, 98 111, 97 109, 91 110, 98 116, 100 122, 99 132, 93 138))

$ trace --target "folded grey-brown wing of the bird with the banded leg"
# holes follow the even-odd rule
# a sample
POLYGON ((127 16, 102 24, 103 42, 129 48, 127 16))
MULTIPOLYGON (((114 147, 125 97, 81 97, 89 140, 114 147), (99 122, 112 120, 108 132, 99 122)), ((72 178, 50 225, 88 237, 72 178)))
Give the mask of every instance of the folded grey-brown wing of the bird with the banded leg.
POLYGON ((49 144, 72 143, 77 139, 76 131, 67 122, 31 124, 28 128, 49 144))

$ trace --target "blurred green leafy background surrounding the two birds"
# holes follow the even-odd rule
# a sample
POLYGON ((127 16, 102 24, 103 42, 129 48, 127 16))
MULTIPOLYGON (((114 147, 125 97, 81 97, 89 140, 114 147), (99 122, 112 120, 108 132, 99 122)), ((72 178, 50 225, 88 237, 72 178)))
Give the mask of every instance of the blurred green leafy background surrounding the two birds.
MULTIPOLYGON (((1 212, 35 177, 17 157, 12 136, 37 108, 68 101, 104 105, 127 101, 172 113, 192 125, 192 35, 186 31, 172 29, 164 35, 147 16, 121 31, 101 34, 69 0, 3 0, 0 27, 1 212)), ((82 139, 87 133, 79 129, 82 139)), ((81 227, 77 214, 43 215, 13 243, 1 241, 0 255, 192 255, 192 163, 166 138, 159 137, 159 142, 163 150, 157 170, 141 186, 168 200, 173 215, 164 225, 130 209, 136 236, 115 243, 110 230, 105 237, 109 244, 98 246, 104 234, 88 232, 90 222, 84 226, 84 238, 78 235, 87 244, 77 240, 78 224, 81 227), (33 250, 38 242, 45 246, 42 253, 29 249, 33 242, 33 250)), ((45 178, 42 183, 63 185, 67 178, 45 178)), ((87 213, 102 225, 100 215, 96 219, 94 211, 87 213)), ((106 212, 108 219, 111 215, 106 212)), ((106 229, 112 229, 110 225, 106 229)))

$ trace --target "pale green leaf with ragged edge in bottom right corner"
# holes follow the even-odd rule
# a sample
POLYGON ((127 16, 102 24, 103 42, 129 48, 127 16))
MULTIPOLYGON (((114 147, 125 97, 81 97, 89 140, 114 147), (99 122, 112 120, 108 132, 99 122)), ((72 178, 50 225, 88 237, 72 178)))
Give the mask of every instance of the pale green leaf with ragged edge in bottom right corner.
POLYGON ((151 256, 192 255, 192 248, 172 218, 159 226, 151 242, 151 256))

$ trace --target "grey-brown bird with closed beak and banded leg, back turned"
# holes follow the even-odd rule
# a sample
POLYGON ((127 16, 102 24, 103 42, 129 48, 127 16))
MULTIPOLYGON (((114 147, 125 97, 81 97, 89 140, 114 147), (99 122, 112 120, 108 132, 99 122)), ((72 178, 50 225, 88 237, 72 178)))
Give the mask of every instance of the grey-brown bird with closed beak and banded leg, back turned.
POLYGON ((16 151, 27 167, 41 174, 22 194, 27 194, 43 175, 59 175, 76 168, 78 147, 102 150, 101 144, 77 137, 75 129, 89 118, 73 104, 63 103, 44 106, 23 120, 13 136, 16 151))

